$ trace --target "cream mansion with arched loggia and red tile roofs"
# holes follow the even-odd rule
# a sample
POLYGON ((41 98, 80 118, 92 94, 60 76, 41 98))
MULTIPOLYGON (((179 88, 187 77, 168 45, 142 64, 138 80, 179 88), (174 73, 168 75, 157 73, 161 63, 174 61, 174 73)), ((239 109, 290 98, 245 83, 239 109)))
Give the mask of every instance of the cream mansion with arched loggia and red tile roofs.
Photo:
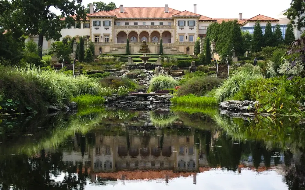
MULTIPOLYGON (((124 54, 127 39, 131 53, 139 53, 143 40, 147 41, 150 53, 159 53, 160 39, 162 39, 165 54, 193 54, 196 39, 206 36, 209 24, 234 20, 209 18, 197 14, 196 9, 196 5, 193 12, 178 11, 169 8, 168 5, 157 8, 129 8, 120 5, 117 9, 94 13, 91 4, 86 20, 81 20, 81 24, 77 23, 75 26, 62 29, 60 40, 75 37, 78 41, 80 36, 87 36, 94 42, 95 54, 98 55, 124 54)), ((239 13, 239 18, 235 19, 238 20, 242 31, 248 30, 250 33, 257 20, 263 28, 267 22, 271 22, 272 26, 279 23, 278 19, 264 15, 245 19, 242 13, 239 13)), ((282 29, 284 34, 283 30, 284 28, 282 29)), ((38 42, 36 38, 29 39, 38 42)), ((43 49, 48 49, 52 42, 52 40, 44 40, 43 49)))

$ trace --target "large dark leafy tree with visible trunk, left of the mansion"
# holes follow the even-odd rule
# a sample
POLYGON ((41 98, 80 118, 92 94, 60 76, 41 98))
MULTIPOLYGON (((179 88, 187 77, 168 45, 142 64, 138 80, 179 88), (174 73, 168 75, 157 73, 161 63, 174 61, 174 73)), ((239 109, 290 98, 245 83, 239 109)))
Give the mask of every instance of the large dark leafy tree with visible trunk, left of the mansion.
POLYGON ((18 23, 26 31, 26 34, 38 35, 39 56, 42 56, 43 37, 47 40, 53 39, 59 41, 60 31, 66 27, 75 24, 74 18, 70 15, 76 15, 76 21, 86 18, 82 0, 12 0, 13 15, 18 17, 18 23), (60 20, 50 10, 54 7, 61 11, 61 16, 66 17, 65 21, 60 20), (22 15, 22 16, 20 16, 22 15))

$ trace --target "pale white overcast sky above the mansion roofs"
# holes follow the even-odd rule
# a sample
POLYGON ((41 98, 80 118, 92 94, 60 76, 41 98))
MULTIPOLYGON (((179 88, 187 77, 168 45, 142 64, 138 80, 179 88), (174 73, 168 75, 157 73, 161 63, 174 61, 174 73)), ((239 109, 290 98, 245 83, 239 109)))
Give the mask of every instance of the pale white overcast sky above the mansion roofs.
MULTIPOLYGON (((86 7, 89 3, 98 0, 83 0, 82 4, 86 7)), ((277 18, 277 15, 290 7, 291 0, 152 0, 152 1, 124 1, 124 0, 103 0, 106 4, 114 2, 117 7, 123 4, 124 7, 168 7, 179 11, 193 12, 193 5, 197 5, 197 13, 210 18, 239 18, 242 13, 243 18, 251 18, 258 14, 277 18)), ((53 9, 56 14, 60 12, 53 9)))

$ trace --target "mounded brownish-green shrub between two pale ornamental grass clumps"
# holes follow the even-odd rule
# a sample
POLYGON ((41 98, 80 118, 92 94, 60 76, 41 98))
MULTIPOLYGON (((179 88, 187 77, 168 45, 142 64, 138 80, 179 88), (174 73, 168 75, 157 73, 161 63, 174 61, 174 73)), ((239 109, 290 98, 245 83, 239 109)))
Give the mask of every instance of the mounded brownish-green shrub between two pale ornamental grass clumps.
POLYGON ((177 91, 178 96, 194 94, 196 96, 203 96, 211 91, 214 87, 219 86, 222 79, 217 77, 194 77, 189 79, 177 91))

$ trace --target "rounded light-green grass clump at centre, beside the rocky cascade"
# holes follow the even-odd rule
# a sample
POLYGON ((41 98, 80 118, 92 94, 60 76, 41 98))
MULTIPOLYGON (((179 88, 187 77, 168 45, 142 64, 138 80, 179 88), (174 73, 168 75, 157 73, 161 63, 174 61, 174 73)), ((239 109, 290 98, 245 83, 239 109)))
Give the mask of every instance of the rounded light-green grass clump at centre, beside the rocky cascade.
POLYGON ((178 86, 179 82, 169 75, 154 75, 150 79, 150 85, 148 92, 153 92, 156 90, 171 89, 178 86))

